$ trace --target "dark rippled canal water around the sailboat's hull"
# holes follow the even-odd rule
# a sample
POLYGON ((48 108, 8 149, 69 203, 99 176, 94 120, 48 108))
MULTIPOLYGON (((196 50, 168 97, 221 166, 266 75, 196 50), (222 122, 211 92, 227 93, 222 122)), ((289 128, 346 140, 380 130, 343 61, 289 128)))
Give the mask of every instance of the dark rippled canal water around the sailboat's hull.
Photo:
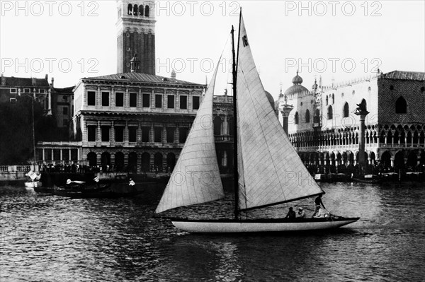
POLYGON ((361 220, 326 233, 191 235, 152 217, 162 187, 133 199, 0 187, 0 281, 425 281, 423 184, 322 188, 331 213, 361 220))

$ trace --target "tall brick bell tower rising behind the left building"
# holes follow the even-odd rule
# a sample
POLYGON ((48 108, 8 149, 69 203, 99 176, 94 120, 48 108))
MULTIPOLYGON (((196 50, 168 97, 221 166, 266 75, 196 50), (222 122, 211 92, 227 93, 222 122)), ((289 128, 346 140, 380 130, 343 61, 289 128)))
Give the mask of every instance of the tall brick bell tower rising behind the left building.
POLYGON ((155 2, 118 0, 117 73, 132 71, 137 54, 140 67, 133 71, 155 74, 155 2))

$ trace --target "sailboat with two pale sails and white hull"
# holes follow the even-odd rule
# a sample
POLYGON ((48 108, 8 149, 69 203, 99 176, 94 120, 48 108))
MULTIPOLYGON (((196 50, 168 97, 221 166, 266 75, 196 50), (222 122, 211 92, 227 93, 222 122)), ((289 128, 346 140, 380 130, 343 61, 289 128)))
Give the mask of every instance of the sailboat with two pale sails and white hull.
MULTIPOLYGON (((322 230, 358 221, 359 218, 332 215, 291 219, 246 216, 254 209, 307 199, 324 194, 324 191, 300 160, 266 97, 251 54, 242 12, 237 63, 233 35, 232 27, 234 217, 171 218, 171 222, 190 233, 260 233, 322 230)), ((212 124, 216 76, 217 69, 155 213, 225 197, 212 124)))

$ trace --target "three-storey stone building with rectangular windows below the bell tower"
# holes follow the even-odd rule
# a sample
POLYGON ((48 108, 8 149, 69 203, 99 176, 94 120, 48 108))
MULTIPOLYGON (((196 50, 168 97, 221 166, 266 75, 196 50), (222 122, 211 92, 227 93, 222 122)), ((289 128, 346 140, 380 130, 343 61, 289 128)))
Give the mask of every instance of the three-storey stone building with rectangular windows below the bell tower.
POLYGON ((74 89, 74 134, 88 165, 168 172, 205 86, 130 72, 82 78, 74 89))

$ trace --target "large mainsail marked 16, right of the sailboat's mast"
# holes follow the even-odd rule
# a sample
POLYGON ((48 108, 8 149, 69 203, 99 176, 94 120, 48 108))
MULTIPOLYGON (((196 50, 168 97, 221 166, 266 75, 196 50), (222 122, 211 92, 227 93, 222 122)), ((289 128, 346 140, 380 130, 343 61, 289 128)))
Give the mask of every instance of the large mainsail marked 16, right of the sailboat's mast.
POLYGON ((251 54, 241 15, 237 66, 239 146, 244 190, 239 208, 270 206, 323 191, 310 176, 278 122, 251 54))

